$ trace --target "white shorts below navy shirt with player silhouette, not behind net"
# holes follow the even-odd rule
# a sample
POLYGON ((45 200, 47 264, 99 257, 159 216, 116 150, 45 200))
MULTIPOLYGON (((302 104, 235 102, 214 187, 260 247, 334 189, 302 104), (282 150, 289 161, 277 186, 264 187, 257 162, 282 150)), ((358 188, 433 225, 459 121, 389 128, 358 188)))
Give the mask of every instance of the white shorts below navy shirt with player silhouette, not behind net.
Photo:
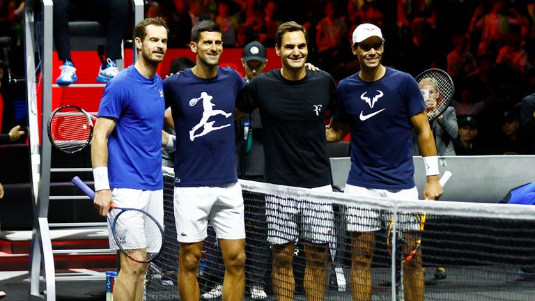
POLYGON ((208 220, 217 238, 245 238, 244 206, 240 183, 215 187, 175 187, 178 242, 200 242, 208 236, 208 220))

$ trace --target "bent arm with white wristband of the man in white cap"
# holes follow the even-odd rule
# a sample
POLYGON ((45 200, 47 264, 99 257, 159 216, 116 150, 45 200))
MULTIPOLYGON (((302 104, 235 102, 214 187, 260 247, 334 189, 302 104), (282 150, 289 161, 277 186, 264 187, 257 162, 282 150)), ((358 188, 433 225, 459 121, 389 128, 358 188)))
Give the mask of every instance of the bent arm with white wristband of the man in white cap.
POLYGON ((435 139, 433 139, 433 132, 429 127, 426 111, 421 111, 412 116, 410 123, 418 134, 420 153, 424 157, 427 178, 424 199, 438 199, 442 195, 442 187, 439 183, 437 147, 435 146, 435 139))

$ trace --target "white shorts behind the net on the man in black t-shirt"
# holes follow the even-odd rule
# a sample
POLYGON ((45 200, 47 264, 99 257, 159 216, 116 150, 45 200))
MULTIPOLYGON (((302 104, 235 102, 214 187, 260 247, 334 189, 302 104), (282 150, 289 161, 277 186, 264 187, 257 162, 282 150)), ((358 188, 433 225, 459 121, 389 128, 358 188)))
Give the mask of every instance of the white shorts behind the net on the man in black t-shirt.
MULTIPOLYGON (((332 192, 331 185, 311 188, 332 192)), ((301 237, 308 242, 323 244, 335 242, 334 215, 330 201, 287 199, 284 196, 266 196, 267 241, 274 245, 297 242, 299 224, 301 237)))

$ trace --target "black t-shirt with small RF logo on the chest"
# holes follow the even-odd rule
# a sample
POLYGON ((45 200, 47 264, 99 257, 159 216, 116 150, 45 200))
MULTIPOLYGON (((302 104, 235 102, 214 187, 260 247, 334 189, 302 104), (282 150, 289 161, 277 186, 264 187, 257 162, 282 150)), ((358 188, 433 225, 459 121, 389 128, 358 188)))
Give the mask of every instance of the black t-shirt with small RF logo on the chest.
POLYGON ((295 187, 330 184, 325 141, 325 111, 334 103, 334 79, 311 72, 289 81, 281 70, 255 77, 238 98, 240 111, 260 111, 265 181, 295 187))

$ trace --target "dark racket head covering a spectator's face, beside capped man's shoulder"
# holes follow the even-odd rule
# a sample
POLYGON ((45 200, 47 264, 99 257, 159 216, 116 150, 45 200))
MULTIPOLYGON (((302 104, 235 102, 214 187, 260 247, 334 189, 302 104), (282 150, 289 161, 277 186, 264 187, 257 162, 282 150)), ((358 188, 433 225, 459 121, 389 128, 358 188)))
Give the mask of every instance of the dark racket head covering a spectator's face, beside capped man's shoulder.
POLYGON ((432 68, 421 72, 416 82, 426 102, 427 118, 433 121, 444 113, 453 98, 453 79, 444 70, 432 68))

